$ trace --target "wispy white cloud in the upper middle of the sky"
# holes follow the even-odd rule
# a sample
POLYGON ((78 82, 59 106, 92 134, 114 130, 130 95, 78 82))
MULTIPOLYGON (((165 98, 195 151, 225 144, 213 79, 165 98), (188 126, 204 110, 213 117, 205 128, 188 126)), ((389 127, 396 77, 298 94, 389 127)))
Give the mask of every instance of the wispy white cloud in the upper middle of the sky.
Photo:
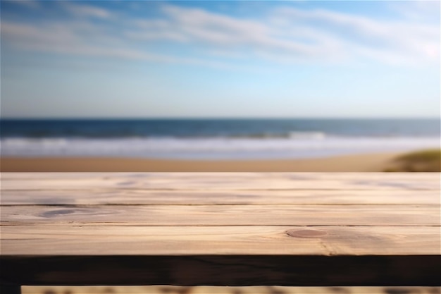
POLYGON ((290 35, 278 37, 275 27, 256 20, 232 18, 201 9, 170 5, 164 6, 163 11, 167 16, 165 20, 139 22, 142 32, 128 32, 128 36, 193 42, 208 45, 216 50, 247 49, 250 54, 263 50, 304 58, 324 53, 323 47, 299 42, 290 38, 290 35))

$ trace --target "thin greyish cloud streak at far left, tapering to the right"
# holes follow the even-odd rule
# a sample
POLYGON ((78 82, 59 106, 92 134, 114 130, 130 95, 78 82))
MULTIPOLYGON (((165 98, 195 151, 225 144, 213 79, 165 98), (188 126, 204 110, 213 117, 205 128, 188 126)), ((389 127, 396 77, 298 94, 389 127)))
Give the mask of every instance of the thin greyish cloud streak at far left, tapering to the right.
POLYGON ((1 23, 1 37, 13 46, 27 51, 236 68, 217 61, 170 56, 132 48, 122 39, 102 37, 99 30, 86 36, 81 31, 87 27, 85 23, 51 23, 36 26, 4 21, 1 23))

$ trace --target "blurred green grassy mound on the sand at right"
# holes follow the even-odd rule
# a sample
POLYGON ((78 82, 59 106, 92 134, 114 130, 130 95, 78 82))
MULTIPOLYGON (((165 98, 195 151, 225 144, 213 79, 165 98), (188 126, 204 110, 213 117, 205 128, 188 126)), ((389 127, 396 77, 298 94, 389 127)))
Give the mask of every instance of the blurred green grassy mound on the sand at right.
POLYGON ((384 171, 440 172, 441 149, 421 150, 394 159, 384 171))

